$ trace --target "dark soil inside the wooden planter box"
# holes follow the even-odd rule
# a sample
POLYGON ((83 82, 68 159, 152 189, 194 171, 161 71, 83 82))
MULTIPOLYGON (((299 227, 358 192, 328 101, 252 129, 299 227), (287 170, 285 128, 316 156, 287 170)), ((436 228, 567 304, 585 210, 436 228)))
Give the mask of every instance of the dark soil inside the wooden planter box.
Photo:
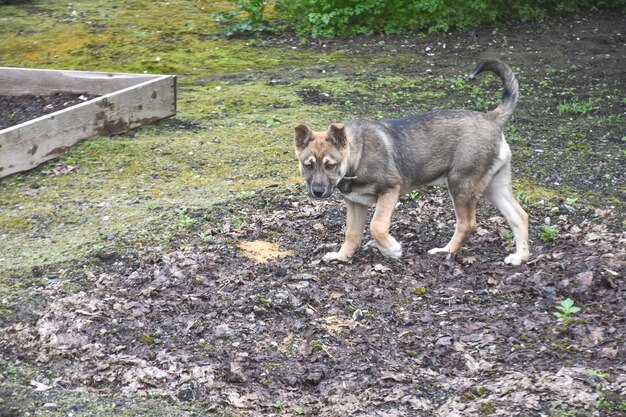
POLYGON ((91 94, 0 96, 0 130, 94 99, 91 94))

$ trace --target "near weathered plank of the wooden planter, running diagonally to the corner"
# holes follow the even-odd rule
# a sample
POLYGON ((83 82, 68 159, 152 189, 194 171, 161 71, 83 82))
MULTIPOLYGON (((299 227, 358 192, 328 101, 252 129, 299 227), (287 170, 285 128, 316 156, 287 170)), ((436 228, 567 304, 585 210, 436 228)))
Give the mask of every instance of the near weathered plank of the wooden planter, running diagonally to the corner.
POLYGON ((0 131, 0 177, 32 169, 83 140, 123 133, 175 113, 176 77, 152 76, 138 85, 12 126, 0 131))

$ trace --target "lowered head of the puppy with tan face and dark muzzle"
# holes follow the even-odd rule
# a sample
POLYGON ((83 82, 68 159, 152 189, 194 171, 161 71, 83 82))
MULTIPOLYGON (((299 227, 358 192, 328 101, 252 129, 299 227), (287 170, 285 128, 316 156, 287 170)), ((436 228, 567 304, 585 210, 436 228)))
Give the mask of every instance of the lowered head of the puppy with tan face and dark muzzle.
POLYGON ((309 195, 330 197, 347 171, 349 144, 344 126, 332 124, 326 132, 314 132, 300 125, 295 128, 294 141, 309 195))

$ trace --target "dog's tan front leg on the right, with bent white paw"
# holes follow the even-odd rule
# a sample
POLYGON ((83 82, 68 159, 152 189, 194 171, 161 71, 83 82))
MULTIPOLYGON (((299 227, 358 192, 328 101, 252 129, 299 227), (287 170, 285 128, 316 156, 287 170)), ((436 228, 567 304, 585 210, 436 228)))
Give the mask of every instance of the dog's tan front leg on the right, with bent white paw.
POLYGON ((400 187, 392 188, 378 197, 376 211, 370 224, 372 237, 383 255, 397 259, 402 256, 402 245, 389 234, 391 216, 400 198, 400 187))

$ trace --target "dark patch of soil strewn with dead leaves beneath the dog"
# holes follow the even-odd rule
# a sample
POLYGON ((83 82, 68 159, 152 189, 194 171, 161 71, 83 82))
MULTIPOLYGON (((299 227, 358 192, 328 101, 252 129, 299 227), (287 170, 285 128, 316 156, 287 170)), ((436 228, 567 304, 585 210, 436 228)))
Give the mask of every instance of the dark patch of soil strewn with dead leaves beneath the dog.
POLYGON ((626 234, 557 215, 558 237, 512 268, 505 223, 483 209, 460 255, 428 256, 453 229, 450 207, 443 189, 403 201, 392 227, 402 260, 368 244, 347 264, 320 263, 341 239, 341 201, 264 192, 192 212, 214 224, 203 242, 103 254, 108 266, 70 295, 63 276, 49 279, 36 292, 50 304, 24 306, 0 342, 60 387, 153 390, 241 416, 287 415, 283 403, 311 416, 510 416, 623 401, 626 234), (271 252, 259 241, 284 257, 253 260, 271 252), (569 324, 553 315, 567 298, 581 307, 569 324))

